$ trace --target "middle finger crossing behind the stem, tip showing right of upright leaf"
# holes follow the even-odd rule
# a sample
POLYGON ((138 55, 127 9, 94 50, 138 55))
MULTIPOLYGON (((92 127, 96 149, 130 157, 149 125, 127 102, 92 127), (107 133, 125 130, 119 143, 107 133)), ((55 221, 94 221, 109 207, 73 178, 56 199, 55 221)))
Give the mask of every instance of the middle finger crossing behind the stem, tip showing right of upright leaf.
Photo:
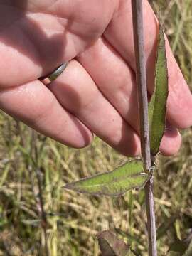
MULTIPOLYGON (((127 123, 139 133, 135 76, 119 53, 104 38, 100 38, 95 45, 85 50, 78 60, 95 81, 102 94, 127 123)), ((169 125, 161 144, 161 153, 166 156, 176 154, 180 146, 181 135, 169 125)))

